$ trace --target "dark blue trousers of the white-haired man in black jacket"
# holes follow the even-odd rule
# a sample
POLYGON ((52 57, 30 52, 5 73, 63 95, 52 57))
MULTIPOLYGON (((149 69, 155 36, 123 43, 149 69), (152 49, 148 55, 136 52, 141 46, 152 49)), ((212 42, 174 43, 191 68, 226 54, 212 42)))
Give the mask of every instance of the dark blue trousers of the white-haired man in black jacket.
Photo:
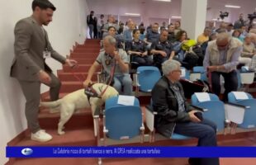
MULTIPOLYGON (((198 147, 217 146, 216 124, 211 120, 204 119, 200 123, 177 123, 174 132, 197 138, 198 147)), ((190 158, 189 162, 197 165, 218 165, 219 158, 190 158)))

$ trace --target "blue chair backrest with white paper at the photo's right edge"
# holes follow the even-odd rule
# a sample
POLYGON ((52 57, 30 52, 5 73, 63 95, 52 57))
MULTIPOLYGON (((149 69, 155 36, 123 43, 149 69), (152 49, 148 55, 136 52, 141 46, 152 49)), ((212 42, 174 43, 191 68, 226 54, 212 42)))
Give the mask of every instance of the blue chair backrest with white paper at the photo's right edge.
POLYGON ((237 103, 247 108, 244 111, 243 123, 239 125, 242 128, 254 128, 256 127, 256 99, 252 97, 249 93, 244 92, 241 96, 235 96, 235 92, 230 92, 228 94, 229 102, 237 103), (244 95, 244 96, 243 96, 244 95), (247 98, 245 98, 247 97, 247 98))

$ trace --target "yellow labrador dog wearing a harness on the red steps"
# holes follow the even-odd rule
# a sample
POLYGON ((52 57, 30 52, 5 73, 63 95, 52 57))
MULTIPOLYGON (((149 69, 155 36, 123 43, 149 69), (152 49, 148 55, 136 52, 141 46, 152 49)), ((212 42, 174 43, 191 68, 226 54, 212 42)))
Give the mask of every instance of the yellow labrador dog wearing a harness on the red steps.
POLYGON ((69 93, 68 95, 59 99, 58 101, 40 102, 41 106, 59 109, 60 119, 58 124, 58 134, 65 133, 63 131, 64 124, 70 119, 70 117, 73 115, 73 112, 76 111, 77 109, 91 107, 92 115, 93 115, 97 107, 102 106, 102 104, 108 98, 118 96, 118 92, 114 87, 111 87, 111 86, 107 87, 107 85, 103 83, 95 83, 92 85, 92 88, 94 92, 97 92, 98 96, 100 95, 102 96, 88 98, 88 96, 84 93, 84 89, 80 89, 78 91, 69 93))

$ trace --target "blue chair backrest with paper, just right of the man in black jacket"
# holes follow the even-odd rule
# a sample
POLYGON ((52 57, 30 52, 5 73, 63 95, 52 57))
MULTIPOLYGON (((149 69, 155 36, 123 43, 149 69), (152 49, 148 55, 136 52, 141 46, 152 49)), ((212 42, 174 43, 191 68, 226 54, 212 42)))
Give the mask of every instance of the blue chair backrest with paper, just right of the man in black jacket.
POLYGON ((203 112, 203 118, 213 121, 217 125, 217 130, 225 128, 225 106, 215 94, 208 93, 210 101, 200 101, 197 94, 192 95, 192 105, 200 106, 207 111, 203 112))

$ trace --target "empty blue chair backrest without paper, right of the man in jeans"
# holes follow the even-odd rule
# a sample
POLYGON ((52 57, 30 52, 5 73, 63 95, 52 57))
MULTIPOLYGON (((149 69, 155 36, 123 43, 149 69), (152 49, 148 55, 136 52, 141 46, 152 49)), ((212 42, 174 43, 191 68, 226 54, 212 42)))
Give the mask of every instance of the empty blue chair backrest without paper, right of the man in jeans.
POLYGON ((137 68, 139 89, 143 92, 151 92, 154 84, 161 78, 159 68, 152 66, 143 66, 137 68))

